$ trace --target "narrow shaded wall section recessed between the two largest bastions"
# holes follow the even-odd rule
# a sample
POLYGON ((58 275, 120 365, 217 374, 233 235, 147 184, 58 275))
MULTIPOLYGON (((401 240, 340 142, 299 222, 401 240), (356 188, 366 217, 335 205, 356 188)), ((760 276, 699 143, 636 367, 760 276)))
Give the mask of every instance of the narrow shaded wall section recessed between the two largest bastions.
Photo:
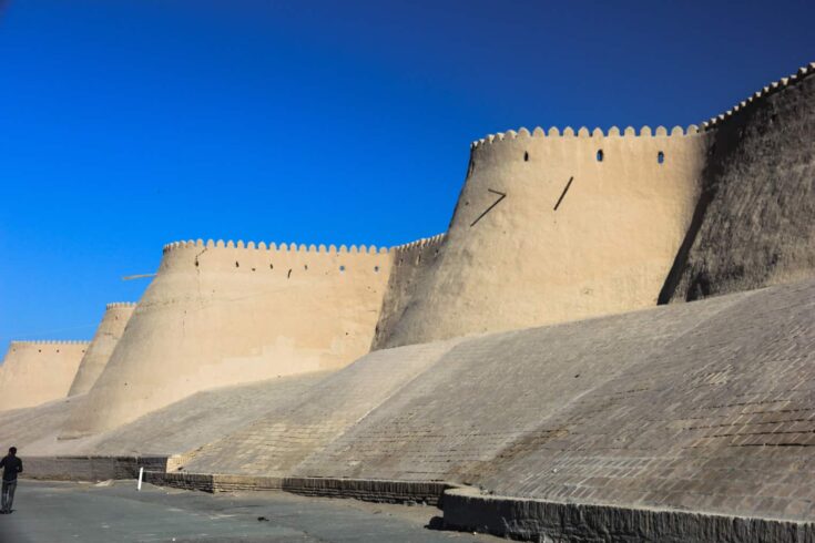
POLYGON ((389 335, 396 329, 407 308, 417 303, 424 274, 436 262, 444 243, 445 235, 438 234, 391 248, 394 264, 371 349, 379 349, 388 344, 389 335))

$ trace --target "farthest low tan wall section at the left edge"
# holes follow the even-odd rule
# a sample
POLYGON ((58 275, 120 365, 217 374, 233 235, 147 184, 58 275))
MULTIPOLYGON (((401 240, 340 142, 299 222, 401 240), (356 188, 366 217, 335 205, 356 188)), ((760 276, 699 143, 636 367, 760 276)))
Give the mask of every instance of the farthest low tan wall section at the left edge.
POLYGON ((12 341, 0 372, 0 411, 64 398, 88 341, 12 341))

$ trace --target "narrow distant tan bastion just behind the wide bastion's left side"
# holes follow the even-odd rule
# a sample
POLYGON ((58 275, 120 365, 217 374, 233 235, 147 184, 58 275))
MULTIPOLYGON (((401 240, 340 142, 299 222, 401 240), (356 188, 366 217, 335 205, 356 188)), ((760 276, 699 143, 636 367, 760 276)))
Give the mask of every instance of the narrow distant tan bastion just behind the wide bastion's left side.
POLYGON ((82 361, 73 378, 68 396, 83 395, 88 392, 113 354, 113 348, 124 332, 124 327, 135 309, 135 304, 113 303, 108 304, 102 321, 96 328, 91 345, 88 347, 82 361))

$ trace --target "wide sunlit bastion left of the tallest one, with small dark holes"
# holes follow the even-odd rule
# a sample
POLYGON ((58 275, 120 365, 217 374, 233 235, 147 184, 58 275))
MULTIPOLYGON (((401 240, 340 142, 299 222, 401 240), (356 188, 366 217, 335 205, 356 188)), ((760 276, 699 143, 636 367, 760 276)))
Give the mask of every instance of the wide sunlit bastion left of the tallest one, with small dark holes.
POLYGON ((390 267, 371 247, 172 244, 63 438, 191 393, 339 368, 368 351, 390 267))

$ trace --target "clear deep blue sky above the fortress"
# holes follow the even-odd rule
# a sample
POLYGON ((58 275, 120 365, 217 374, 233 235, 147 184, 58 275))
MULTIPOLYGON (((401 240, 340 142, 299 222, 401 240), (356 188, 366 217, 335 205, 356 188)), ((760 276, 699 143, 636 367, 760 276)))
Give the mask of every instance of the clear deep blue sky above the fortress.
POLYGON ((187 238, 442 232, 469 143, 687 125, 815 60, 815 3, 12 1, 0 349, 90 338, 187 238))

